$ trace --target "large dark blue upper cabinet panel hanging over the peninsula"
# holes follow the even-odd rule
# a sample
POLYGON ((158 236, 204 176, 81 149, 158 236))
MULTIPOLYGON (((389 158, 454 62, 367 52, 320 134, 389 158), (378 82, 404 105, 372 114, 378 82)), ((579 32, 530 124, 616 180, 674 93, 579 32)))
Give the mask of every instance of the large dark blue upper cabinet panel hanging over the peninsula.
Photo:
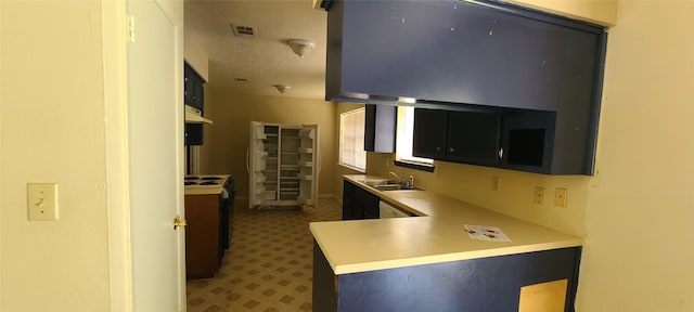
POLYGON ((498 3, 335 1, 326 100, 589 105, 603 29, 498 3))

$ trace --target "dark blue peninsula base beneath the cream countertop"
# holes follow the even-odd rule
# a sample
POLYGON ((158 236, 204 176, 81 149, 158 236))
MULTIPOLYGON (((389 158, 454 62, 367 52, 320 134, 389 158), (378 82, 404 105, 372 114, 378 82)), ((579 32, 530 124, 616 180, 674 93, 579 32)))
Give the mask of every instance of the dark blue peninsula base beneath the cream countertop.
POLYGON ((550 296, 573 312, 580 253, 574 247, 335 275, 314 243, 313 311, 519 311, 532 300, 522 288, 547 283, 566 285, 550 296))

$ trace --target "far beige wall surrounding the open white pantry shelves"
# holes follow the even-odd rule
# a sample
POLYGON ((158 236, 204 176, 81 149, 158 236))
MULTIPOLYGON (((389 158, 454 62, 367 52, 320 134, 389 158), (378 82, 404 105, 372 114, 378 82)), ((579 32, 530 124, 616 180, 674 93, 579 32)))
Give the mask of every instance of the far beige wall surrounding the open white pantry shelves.
POLYGON ((233 94, 215 81, 205 84, 205 126, 201 173, 230 173, 237 196, 248 195, 246 150, 250 121, 270 123, 318 123, 320 127, 319 194, 335 193, 335 104, 288 96, 233 94))

